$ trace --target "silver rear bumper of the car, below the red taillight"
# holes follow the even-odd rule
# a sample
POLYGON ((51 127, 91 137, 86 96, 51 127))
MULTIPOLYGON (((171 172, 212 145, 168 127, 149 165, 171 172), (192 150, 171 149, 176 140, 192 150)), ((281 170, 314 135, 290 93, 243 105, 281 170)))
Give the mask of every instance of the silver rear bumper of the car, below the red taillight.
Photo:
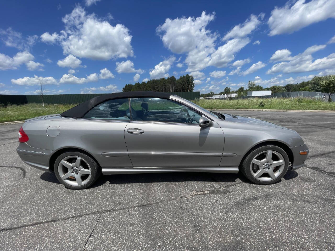
POLYGON ((27 143, 19 143, 19 146, 16 148, 16 152, 21 160, 27 165, 45 172, 51 172, 49 160, 55 151, 34 148, 29 146, 27 143))

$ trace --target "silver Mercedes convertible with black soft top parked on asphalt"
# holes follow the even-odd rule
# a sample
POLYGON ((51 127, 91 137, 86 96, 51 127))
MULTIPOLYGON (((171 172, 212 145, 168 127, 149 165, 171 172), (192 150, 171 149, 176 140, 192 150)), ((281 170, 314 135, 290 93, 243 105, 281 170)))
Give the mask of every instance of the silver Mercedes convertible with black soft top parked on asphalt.
POLYGON ((89 187, 100 173, 241 171, 272 184, 304 166, 309 152, 293 130, 149 91, 98 96, 28 119, 18 137, 26 164, 71 189, 89 187))

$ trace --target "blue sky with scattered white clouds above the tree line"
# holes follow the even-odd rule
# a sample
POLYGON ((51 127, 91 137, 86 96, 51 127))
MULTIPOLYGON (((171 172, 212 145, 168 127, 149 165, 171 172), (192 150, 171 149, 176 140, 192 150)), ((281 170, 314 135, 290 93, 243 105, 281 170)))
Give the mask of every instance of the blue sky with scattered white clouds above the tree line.
POLYGON ((202 93, 335 74, 335 0, 2 1, 0 94, 111 93, 192 74, 202 93))

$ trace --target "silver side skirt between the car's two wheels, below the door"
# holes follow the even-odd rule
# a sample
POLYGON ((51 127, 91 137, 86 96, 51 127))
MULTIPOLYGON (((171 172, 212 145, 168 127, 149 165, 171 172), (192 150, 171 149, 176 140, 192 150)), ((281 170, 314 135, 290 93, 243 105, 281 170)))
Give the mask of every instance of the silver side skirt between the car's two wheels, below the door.
POLYGON ((206 173, 238 173, 239 167, 103 167, 104 175, 126 173, 172 173, 172 172, 206 172, 206 173))

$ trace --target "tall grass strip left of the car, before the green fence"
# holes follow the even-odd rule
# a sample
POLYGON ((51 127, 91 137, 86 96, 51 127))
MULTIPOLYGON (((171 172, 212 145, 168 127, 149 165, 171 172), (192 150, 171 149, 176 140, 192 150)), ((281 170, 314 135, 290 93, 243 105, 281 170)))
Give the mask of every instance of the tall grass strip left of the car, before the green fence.
POLYGON ((62 113, 76 104, 42 104, 8 105, 0 107, 0 122, 19 121, 28 118, 62 113))

